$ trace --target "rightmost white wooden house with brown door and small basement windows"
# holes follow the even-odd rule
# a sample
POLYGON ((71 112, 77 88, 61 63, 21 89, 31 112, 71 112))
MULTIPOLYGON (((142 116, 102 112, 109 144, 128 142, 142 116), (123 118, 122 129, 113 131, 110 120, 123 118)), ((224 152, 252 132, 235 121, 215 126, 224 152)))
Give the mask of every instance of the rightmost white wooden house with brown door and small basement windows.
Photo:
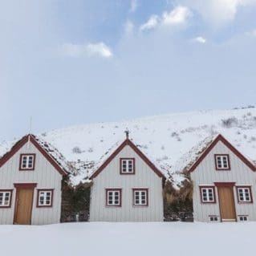
POLYGON ((221 135, 194 152, 187 171, 193 181, 195 221, 256 221, 254 163, 221 135))

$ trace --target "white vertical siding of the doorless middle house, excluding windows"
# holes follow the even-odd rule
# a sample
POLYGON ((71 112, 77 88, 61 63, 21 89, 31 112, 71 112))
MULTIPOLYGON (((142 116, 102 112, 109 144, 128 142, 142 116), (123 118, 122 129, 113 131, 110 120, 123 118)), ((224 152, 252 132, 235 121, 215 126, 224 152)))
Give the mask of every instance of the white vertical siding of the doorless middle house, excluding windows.
POLYGON ((163 221, 162 179, 130 146, 123 150, 93 179, 90 221, 163 221), (120 158, 134 157, 136 173, 120 175, 120 158), (122 189, 122 206, 106 206, 105 189, 122 189), (133 206, 132 189, 148 189, 148 206, 133 206))

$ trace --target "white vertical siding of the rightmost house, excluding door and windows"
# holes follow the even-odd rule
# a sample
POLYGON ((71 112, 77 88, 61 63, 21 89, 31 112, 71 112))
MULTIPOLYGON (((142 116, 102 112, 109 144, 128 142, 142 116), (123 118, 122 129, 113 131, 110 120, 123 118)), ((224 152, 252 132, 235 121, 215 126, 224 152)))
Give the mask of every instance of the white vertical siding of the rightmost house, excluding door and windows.
MULTIPOLYGON (((252 190, 253 200, 256 202, 256 173, 254 173, 238 156, 219 141, 209 152, 200 165, 191 173, 193 181, 193 211, 196 221, 209 221, 209 215, 217 215, 220 220, 217 188, 215 188, 216 204, 202 204, 200 185, 214 185, 214 182, 235 182, 235 186, 249 185, 252 190), (216 171, 214 154, 230 155, 230 171, 216 171)), ((249 221, 256 221, 255 203, 238 203, 237 191, 234 187, 234 202, 237 217, 248 215, 249 221)), ((239 218, 238 218, 239 220, 239 218)))

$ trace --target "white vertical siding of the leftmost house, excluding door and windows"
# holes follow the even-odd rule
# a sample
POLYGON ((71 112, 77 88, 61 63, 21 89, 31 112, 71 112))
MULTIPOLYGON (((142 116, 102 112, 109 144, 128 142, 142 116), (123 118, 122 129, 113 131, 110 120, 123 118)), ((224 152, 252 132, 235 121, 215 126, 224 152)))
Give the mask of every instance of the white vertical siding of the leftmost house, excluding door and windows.
POLYGON ((61 210, 62 175, 55 170, 34 144, 24 144, 0 168, 0 189, 14 189, 10 208, 0 208, 0 224, 13 224, 16 189, 14 183, 37 183, 31 215, 32 225, 58 223, 61 210), (35 153, 35 170, 19 171, 19 156, 21 153, 35 153), (54 189, 52 207, 37 208, 37 189, 54 189))

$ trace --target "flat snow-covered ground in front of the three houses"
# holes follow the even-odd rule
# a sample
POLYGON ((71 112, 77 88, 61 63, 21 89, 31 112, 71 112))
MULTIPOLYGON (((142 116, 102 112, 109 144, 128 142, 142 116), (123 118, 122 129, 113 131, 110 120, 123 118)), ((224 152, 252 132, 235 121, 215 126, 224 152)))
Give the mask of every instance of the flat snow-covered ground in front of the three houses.
POLYGON ((255 235, 256 222, 0 226, 0 255, 254 255, 255 235))

